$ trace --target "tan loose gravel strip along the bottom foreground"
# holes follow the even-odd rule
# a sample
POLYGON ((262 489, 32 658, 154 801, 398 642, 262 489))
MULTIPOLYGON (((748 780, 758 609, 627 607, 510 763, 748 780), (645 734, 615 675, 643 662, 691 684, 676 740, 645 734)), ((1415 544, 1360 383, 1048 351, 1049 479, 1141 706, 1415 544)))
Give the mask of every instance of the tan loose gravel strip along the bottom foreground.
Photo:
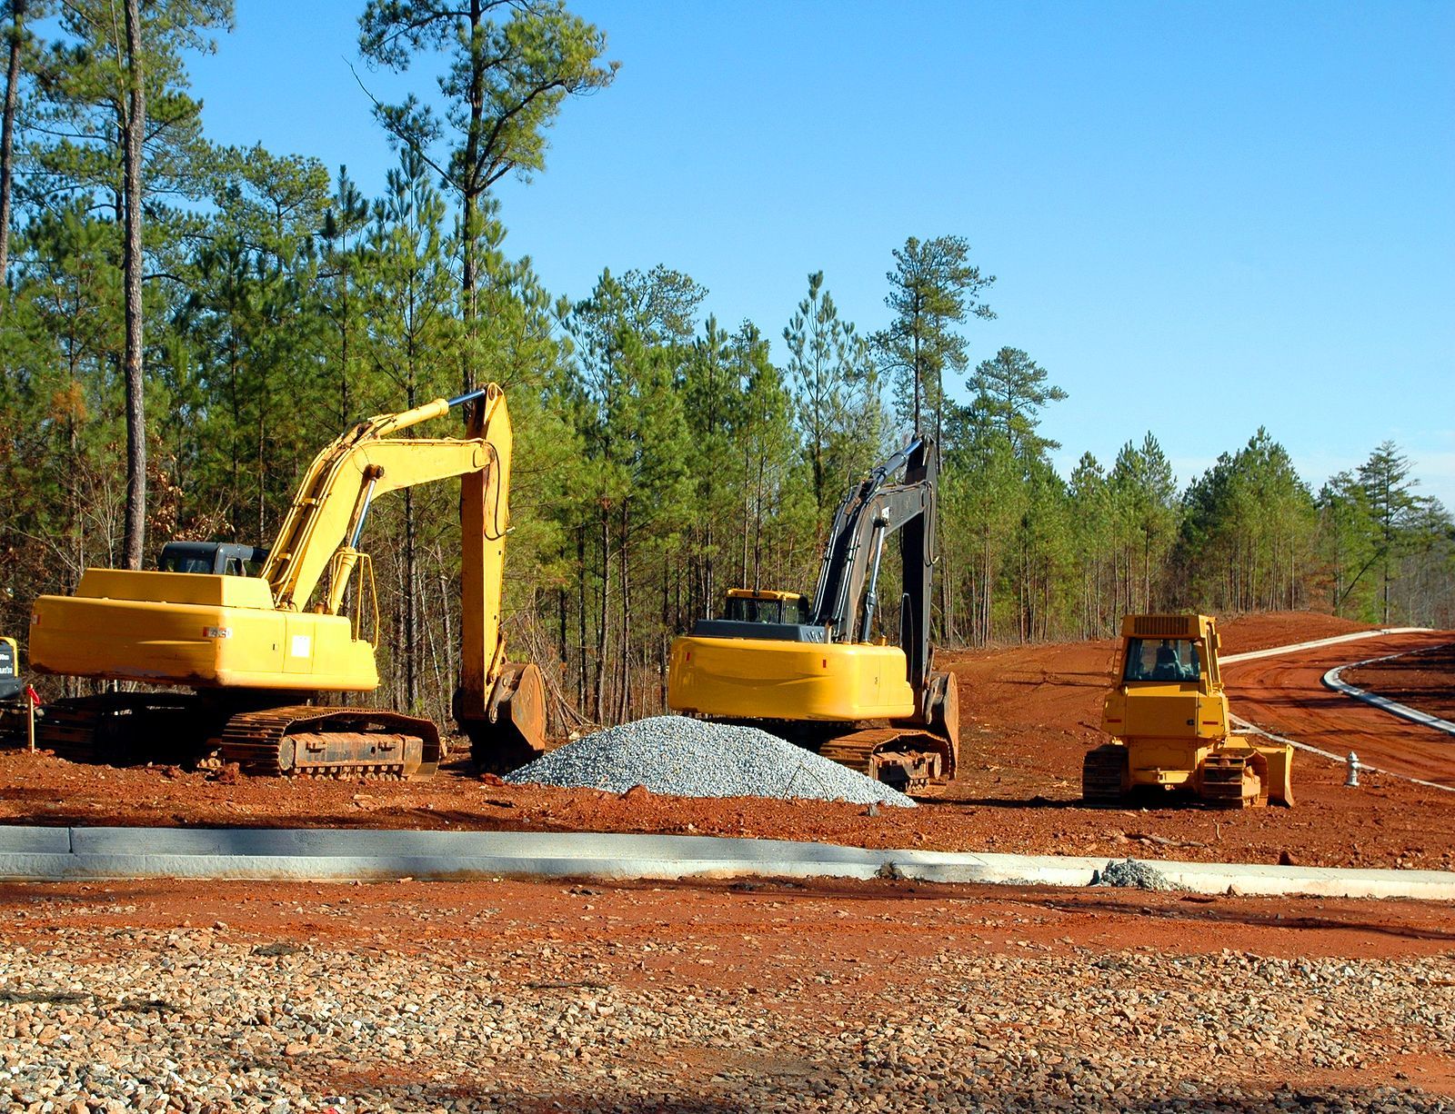
POLYGON ((915 995, 893 971, 870 992, 808 969, 776 986, 613 979, 637 950, 679 953, 674 970, 711 961, 688 941, 537 941, 492 966, 258 944, 226 926, 105 935, 0 945, 4 1110, 1451 1108, 1349 1083, 1369 1060, 1451 1053, 1448 954, 927 947, 917 974, 934 993, 915 995), (1250 1082, 1283 1073, 1301 1082, 1250 1082))

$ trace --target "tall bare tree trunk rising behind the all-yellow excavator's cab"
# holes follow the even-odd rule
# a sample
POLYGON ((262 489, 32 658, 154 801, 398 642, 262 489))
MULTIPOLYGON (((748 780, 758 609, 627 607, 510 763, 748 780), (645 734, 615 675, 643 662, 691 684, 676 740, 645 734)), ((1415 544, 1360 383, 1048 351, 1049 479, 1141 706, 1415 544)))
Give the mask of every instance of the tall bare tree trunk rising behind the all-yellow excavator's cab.
POLYGON ((127 0, 125 111, 125 249, 122 272, 127 288, 127 541, 125 564, 141 567, 147 534, 147 414, 141 366, 141 137, 147 128, 147 97, 141 74, 140 0, 127 0))

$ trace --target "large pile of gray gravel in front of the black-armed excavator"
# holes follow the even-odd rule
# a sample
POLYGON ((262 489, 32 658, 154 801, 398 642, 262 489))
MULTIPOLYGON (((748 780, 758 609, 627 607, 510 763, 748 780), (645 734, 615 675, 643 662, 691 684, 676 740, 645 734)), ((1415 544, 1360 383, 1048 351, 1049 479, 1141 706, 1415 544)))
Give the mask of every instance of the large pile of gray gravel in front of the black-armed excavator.
POLYGON ((608 793, 642 785, 677 797, 806 797, 914 807, 898 790, 776 734, 682 716, 656 716, 588 734, 505 780, 608 793))

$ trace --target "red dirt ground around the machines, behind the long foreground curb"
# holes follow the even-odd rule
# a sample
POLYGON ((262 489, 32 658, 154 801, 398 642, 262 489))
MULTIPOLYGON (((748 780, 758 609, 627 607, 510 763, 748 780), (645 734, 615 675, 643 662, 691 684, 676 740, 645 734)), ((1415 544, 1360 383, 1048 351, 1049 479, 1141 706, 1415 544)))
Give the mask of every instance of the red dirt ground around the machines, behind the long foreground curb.
MULTIPOLYGON (((1227 653, 1350 630, 1359 625, 1312 614, 1253 615, 1222 624, 1227 653)), ((1449 641, 1448 634, 1443 641, 1449 641)), ((1429 644, 1429 636, 1385 636, 1270 660, 1311 656, 1337 665, 1413 644, 1429 644), (1375 646, 1379 650, 1371 649, 1375 646)), ((819 801, 650 794, 624 800, 591 790, 495 785, 461 769, 418 784, 223 784, 212 775, 175 768, 80 766, 12 752, 0 753, 0 823, 687 832, 950 851, 1455 868, 1455 796, 1378 774, 1365 775, 1362 790, 1344 790, 1340 765, 1305 753, 1293 765, 1296 809, 1083 807, 1081 756, 1099 739, 1096 724, 1112 653, 1113 643, 1103 641, 943 654, 960 685, 959 777, 920 809, 882 809, 877 816, 860 806, 819 801)), ((1229 695, 1234 711, 1260 726, 1304 739, 1323 730, 1321 717, 1333 707, 1342 708, 1337 701, 1328 705, 1317 691, 1305 700, 1307 688, 1298 700, 1285 691, 1270 692, 1269 678, 1277 673, 1269 672, 1272 666, 1254 669, 1257 665, 1229 668, 1229 695), (1245 679, 1256 681, 1247 691, 1245 679)), ((1323 669, 1308 669, 1315 686, 1323 669)), ((1397 730, 1390 721, 1400 723, 1387 716, 1360 720, 1360 730, 1369 733, 1356 748, 1362 758, 1375 762, 1378 737, 1397 730)), ((1337 745, 1346 737, 1343 730, 1333 743, 1324 739, 1315 745, 1343 753, 1349 749, 1337 745)), ((1440 777, 1455 777, 1455 746, 1448 746, 1446 762, 1440 777)))

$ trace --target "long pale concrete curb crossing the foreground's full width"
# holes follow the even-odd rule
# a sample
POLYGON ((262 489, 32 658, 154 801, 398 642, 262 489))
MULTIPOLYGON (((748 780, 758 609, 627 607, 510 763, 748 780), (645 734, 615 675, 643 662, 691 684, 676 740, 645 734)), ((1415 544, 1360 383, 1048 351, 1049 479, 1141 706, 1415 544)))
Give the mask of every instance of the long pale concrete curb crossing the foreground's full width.
MULTIPOLYGON (((1196 893, 1455 900, 1455 873, 1148 861, 1196 893)), ((834 843, 578 832, 0 828, 0 880, 247 881, 902 877, 1087 886, 1106 858, 873 851, 834 843)))

